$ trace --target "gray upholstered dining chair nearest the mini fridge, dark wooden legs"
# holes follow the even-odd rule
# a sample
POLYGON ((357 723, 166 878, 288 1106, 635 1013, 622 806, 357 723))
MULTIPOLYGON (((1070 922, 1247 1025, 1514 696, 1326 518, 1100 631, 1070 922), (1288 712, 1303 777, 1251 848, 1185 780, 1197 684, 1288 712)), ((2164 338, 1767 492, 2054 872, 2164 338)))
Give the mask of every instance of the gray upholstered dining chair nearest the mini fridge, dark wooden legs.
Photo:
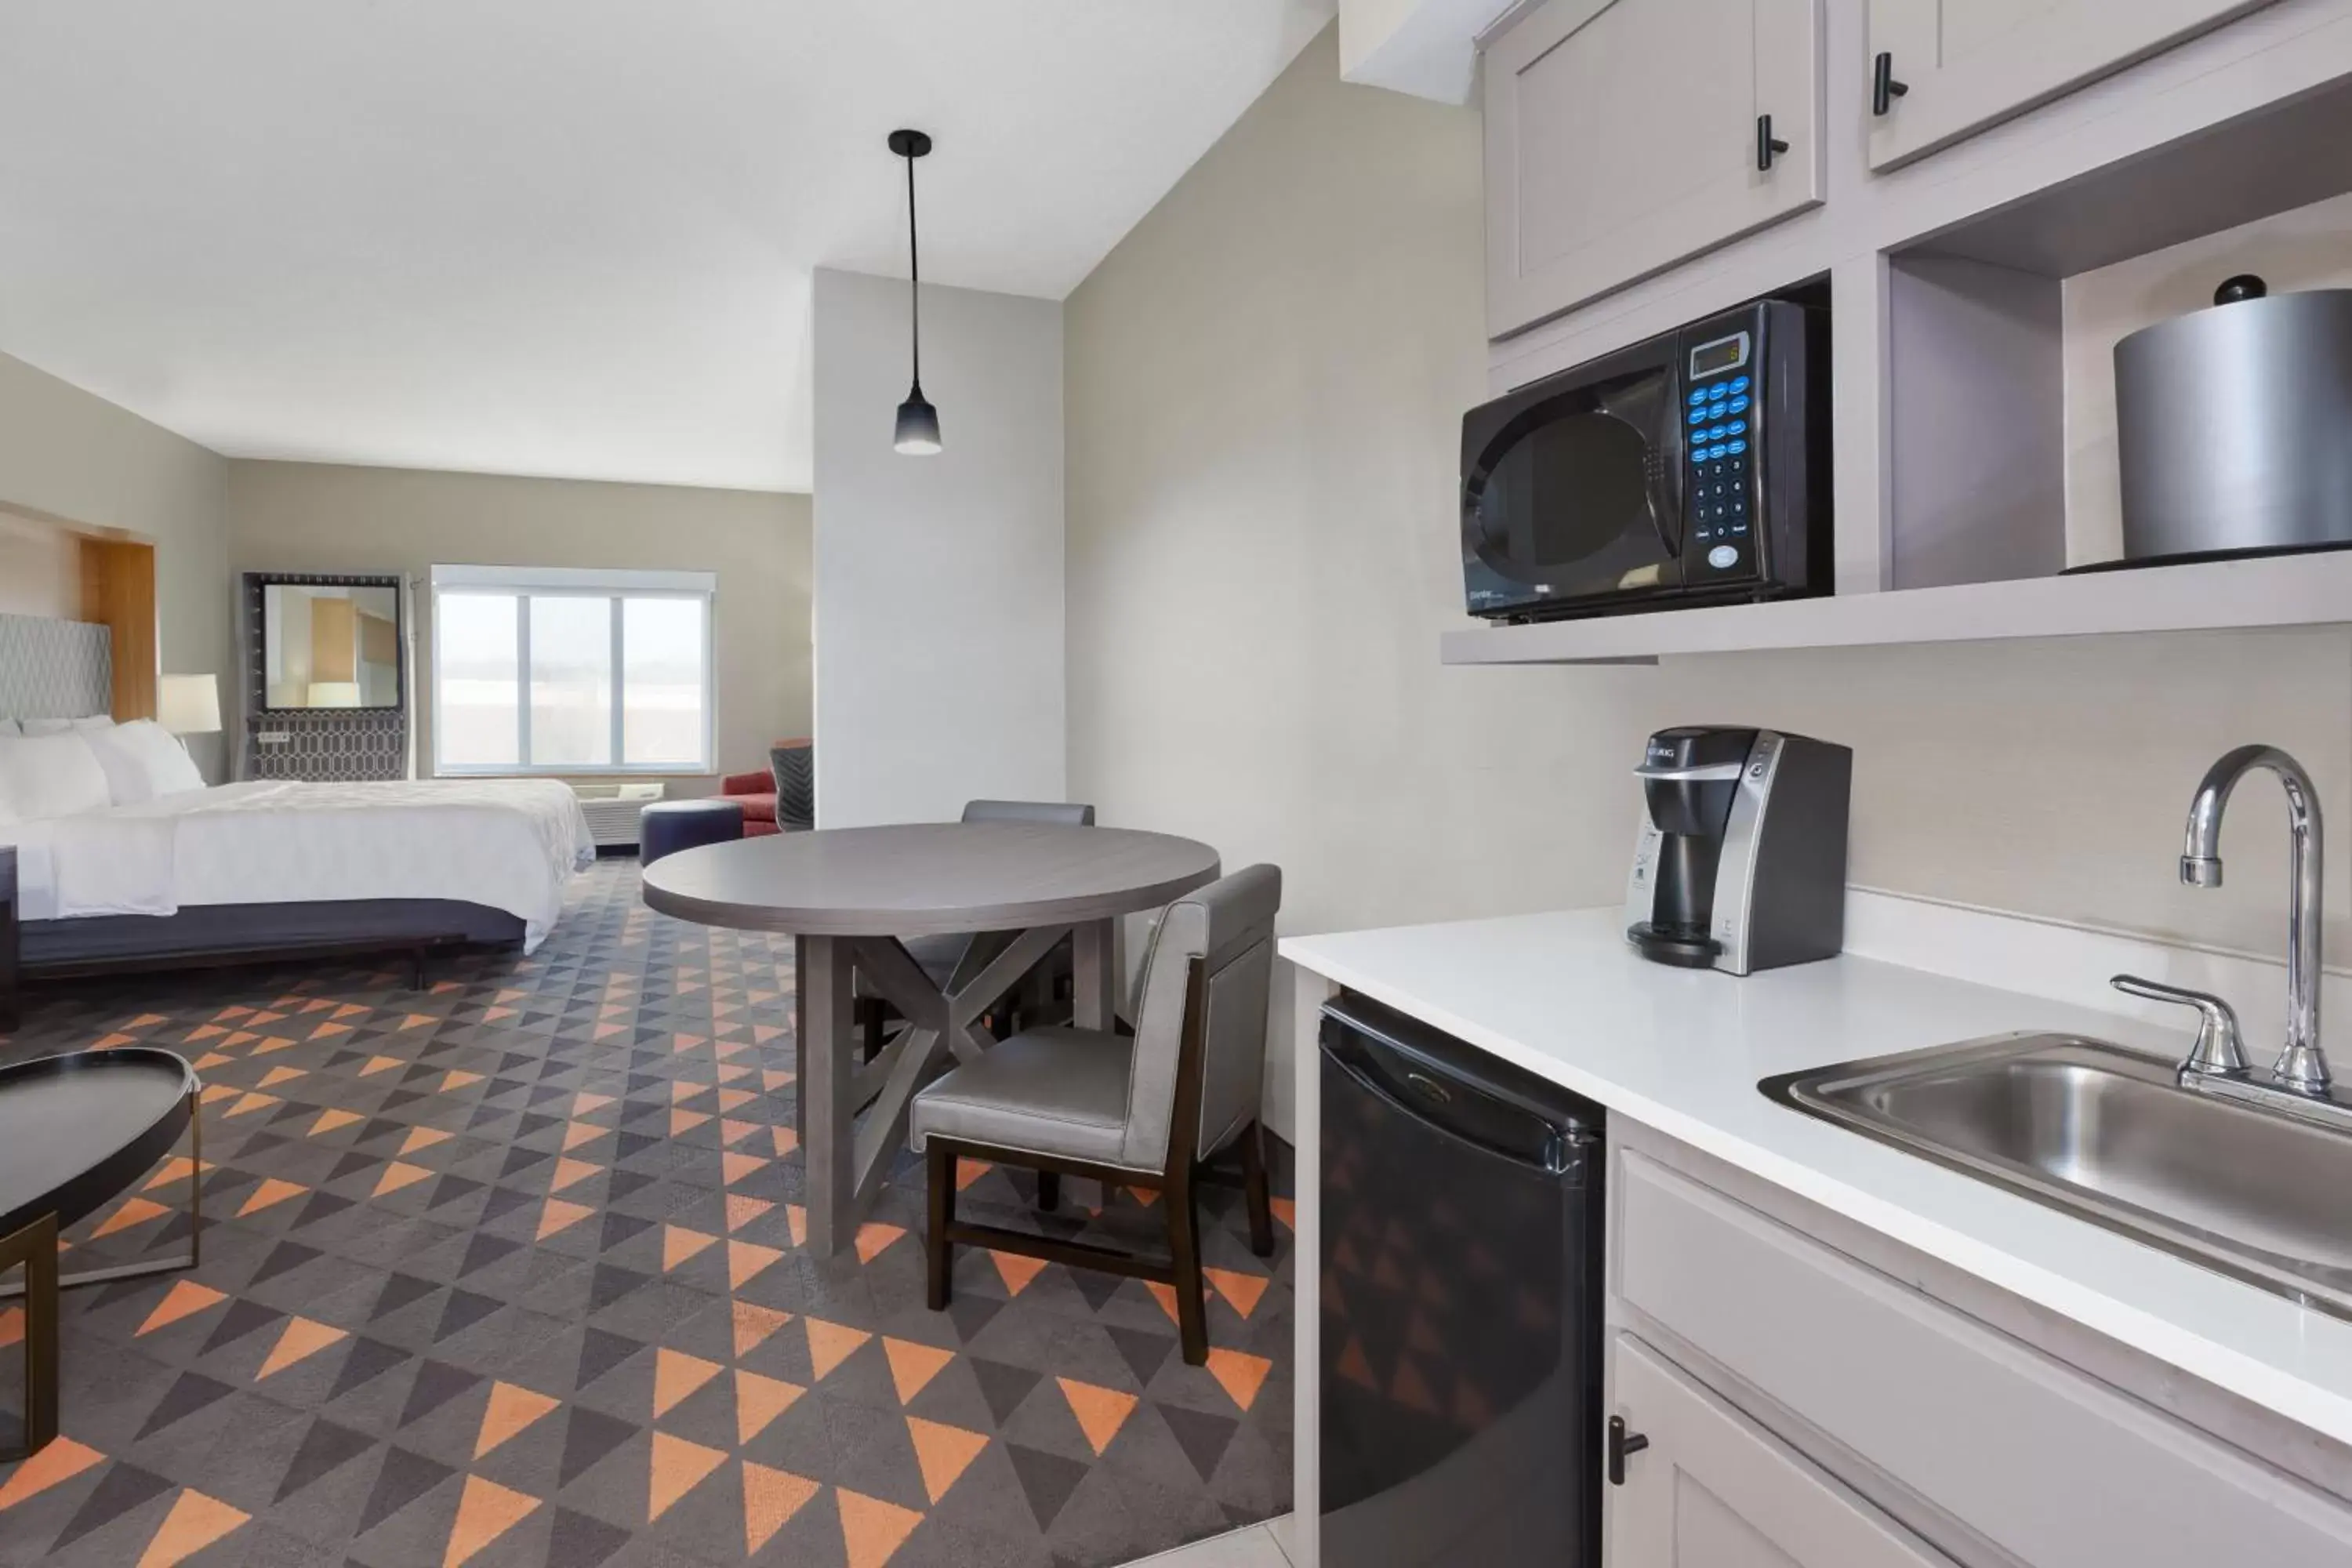
POLYGON ((934 1312, 948 1305, 955 1246, 988 1246, 1174 1286, 1183 1359, 1209 1359, 1195 1187, 1204 1161, 1240 1145, 1249 1248, 1261 1258, 1275 1251, 1258 1098, 1279 907, 1282 872, 1272 865, 1185 893, 1152 926, 1134 1037, 1023 1030, 915 1095, 908 1135, 929 1166, 934 1312), (1061 1175, 1157 1185, 1169 1255, 957 1220, 957 1159, 1037 1171, 1044 1208, 1058 1201, 1061 1175))

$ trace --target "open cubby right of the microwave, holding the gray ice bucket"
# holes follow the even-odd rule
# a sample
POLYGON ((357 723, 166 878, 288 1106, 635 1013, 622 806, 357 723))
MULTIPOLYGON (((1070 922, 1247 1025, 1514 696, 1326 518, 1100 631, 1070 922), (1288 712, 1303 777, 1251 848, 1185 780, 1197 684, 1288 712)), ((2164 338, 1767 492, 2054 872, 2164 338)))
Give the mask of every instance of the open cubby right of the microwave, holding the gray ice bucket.
POLYGON ((1884 254, 1889 590, 2126 555, 2114 346, 2258 273, 2352 287, 2352 78, 1884 254))

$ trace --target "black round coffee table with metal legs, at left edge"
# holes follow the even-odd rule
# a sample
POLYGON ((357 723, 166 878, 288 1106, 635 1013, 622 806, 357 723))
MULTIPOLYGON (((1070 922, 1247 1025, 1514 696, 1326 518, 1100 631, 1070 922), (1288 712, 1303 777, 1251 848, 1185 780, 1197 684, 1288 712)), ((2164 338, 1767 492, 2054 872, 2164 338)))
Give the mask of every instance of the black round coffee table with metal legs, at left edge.
POLYGON ((56 1293, 195 1267, 202 1124, 195 1070, 172 1051, 120 1046, 0 1067, 0 1274, 24 1265, 24 1448, 56 1436, 56 1293), (96 1213, 191 1138, 188 1253, 59 1276, 56 1232, 96 1213))

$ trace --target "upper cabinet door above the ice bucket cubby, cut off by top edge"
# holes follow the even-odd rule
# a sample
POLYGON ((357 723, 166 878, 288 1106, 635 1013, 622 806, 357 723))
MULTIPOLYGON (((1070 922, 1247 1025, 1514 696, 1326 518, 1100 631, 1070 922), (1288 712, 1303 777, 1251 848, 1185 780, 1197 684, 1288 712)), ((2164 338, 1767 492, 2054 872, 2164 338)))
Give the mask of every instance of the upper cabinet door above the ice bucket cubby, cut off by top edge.
POLYGON ((1870 167, 1891 169, 2263 5, 2270 0, 1870 0, 1870 167), (1882 54, 1903 87, 1884 99, 1882 54))

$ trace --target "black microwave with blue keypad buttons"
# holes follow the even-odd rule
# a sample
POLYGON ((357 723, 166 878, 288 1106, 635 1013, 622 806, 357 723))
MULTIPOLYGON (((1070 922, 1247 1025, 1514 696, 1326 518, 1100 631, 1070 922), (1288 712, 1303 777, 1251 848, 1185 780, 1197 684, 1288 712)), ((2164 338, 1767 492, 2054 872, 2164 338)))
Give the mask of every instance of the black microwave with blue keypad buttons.
POLYGON ((1830 590, 1830 317, 1766 299, 1463 416, 1472 616, 1830 590))

